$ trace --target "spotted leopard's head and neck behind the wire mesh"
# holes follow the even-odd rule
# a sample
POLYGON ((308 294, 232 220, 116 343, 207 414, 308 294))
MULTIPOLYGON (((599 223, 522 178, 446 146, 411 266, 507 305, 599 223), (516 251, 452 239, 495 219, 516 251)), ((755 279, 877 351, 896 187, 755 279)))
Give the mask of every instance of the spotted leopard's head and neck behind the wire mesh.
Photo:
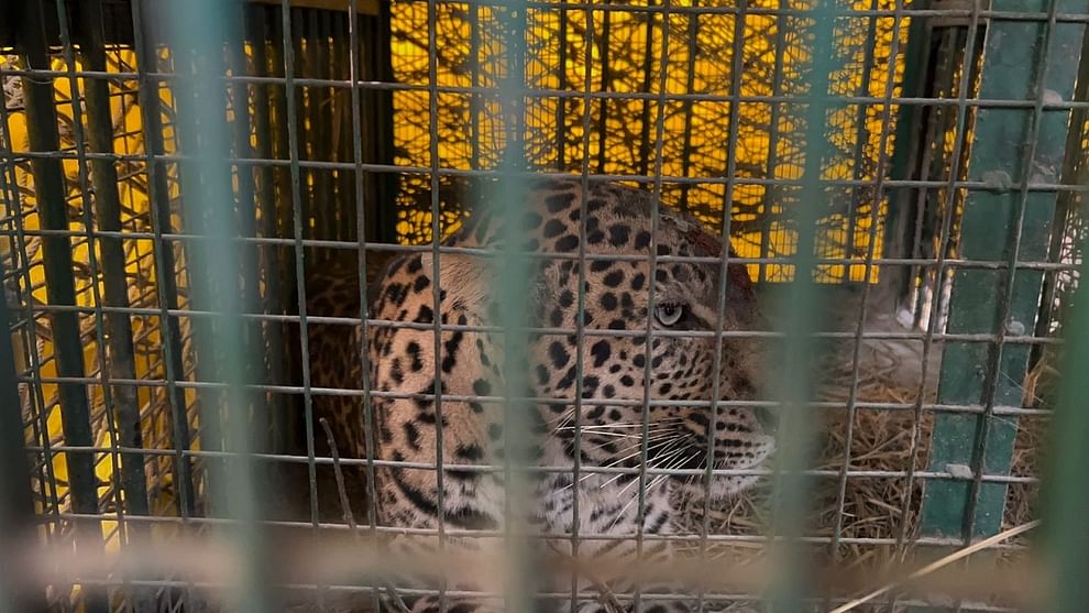
MULTIPOLYGON (((576 254, 584 240, 586 254, 581 381, 578 259, 538 259, 530 284, 535 327, 565 330, 539 331, 530 343, 531 393, 549 398, 536 412, 542 436, 538 460, 569 469, 581 453, 584 467, 639 469, 644 406, 649 404, 647 468, 689 470, 675 478, 656 473, 644 482, 650 495, 639 521, 663 529, 671 492, 704 491, 697 471, 706 468, 712 447, 713 468, 739 471, 758 467, 773 448, 756 411, 745 404, 756 394, 757 342, 729 333, 759 322, 747 273, 732 264, 723 277, 721 239, 696 221, 663 210, 656 226, 651 196, 642 190, 593 183, 583 201, 580 182, 550 180, 529 190, 525 210, 520 240, 530 250, 576 254), (727 333, 716 338, 719 322, 727 333), (712 413, 715 395, 724 402, 712 413)), ((507 237, 501 226, 492 217, 475 217, 447 244, 495 247, 507 237)), ((503 384, 502 342, 491 332, 464 329, 442 330, 436 342, 433 326, 437 317, 447 326, 496 325, 494 314, 503 305, 495 299, 494 266, 463 253, 441 253, 438 265, 431 258, 416 252, 391 262, 376 282, 372 313, 394 324, 373 326, 371 337, 360 339, 370 351, 376 390, 378 456, 433 464, 441 422, 444 463, 497 463, 504 451, 502 411, 495 403, 463 398, 496 395, 503 384), (441 419, 436 391, 449 396, 441 401, 441 419)), ((570 472, 557 470, 541 484, 541 515, 548 524, 570 528, 571 496, 578 490, 585 497, 583 508, 595 510, 591 515, 600 518, 584 529, 614 530, 636 521, 630 502, 638 496, 629 486, 636 479, 636 470, 602 472, 573 489, 570 472)), ((725 496, 756 479, 715 475, 710 492, 725 496)), ((503 521, 494 473, 449 469, 441 496, 433 469, 384 468, 378 480, 380 505, 393 524, 433 525, 440 497, 448 525, 494 527, 503 521)))

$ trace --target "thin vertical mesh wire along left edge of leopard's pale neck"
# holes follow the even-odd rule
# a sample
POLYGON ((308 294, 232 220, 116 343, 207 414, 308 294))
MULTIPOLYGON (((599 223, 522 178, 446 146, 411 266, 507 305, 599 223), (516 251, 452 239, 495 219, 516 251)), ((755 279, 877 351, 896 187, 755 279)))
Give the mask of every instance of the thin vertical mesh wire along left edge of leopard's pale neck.
MULTIPOLYGON (((365 199, 365 188, 363 180, 363 171, 360 168, 360 164, 363 161, 363 124, 362 116, 360 109, 360 72, 362 66, 360 57, 360 17, 356 12, 358 0, 349 0, 349 17, 348 17, 348 37, 351 43, 351 54, 349 55, 349 78, 352 81, 352 158, 355 163, 355 169, 353 174, 354 186, 355 186, 355 222, 359 225, 355 239, 359 241, 359 275, 360 275, 360 340, 356 348, 360 352, 360 364, 362 370, 363 380, 360 384, 363 386, 363 422, 360 427, 363 428, 363 438, 366 445, 366 500, 367 500, 367 526, 371 528, 371 543, 375 544, 378 541, 378 491, 374 482, 374 431, 376 428, 374 419, 374 403, 371 397, 371 355, 370 355, 370 340, 371 330, 367 325, 370 319, 370 303, 367 300, 367 288, 366 288, 366 199, 365 199)), ((378 600, 377 585, 373 584, 371 588, 371 603, 374 611, 381 610, 381 602, 378 600)))

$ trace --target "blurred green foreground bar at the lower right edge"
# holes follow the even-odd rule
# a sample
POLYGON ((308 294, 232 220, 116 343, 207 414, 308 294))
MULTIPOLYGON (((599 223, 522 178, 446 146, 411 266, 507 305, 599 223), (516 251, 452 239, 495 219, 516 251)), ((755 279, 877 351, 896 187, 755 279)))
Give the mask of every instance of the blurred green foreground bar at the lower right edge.
MULTIPOLYGON (((1081 152, 1069 152, 1078 155, 1081 152)), ((1089 248, 1089 244, 1085 244, 1089 248)), ((1044 481, 1045 570, 1050 578, 1046 601, 1036 611, 1078 611, 1089 602, 1089 411, 1082 373, 1089 372, 1089 260, 1081 261, 1078 291, 1066 331, 1058 404, 1052 418, 1044 481)))

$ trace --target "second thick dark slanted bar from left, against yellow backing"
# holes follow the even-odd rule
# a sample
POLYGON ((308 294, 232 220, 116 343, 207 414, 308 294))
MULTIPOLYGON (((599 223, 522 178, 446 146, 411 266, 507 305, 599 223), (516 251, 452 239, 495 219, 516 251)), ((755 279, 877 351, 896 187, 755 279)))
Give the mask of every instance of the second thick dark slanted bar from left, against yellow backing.
MULTIPOLYGON (((57 6, 57 11, 64 14, 64 8, 57 6)), ((106 26, 102 23, 101 0, 89 0, 80 11, 81 36, 80 54, 88 70, 106 68, 106 26)), ((63 19, 63 17, 62 17, 63 19)), ((74 66, 69 66, 74 70, 74 66)), ((73 97, 75 98, 75 79, 73 97)), ((95 153, 113 152, 113 119, 110 112, 109 84, 100 78, 85 78, 84 91, 87 105, 87 136, 90 149, 95 153)), ((75 108, 75 107, 74 107, 75 108)), ((79 122, 76 122, 79 125, 79 122)), ((109 160, 91 161, 95 171, 91 182, 95 186, 95 205, 98 229, 106 232, 121 230, 121 200, 118 195, 117 167, 109 160)), ((88 228, 89 229, 89 228, 88 228)), ((116 308, 129 307, 129 286, 125 282, 124 244, 121 239, 97 237, 98 249, 101 251, 102 285, 106 306, 116 308)), ((94 253, 94 249, 90 251, 94 253)), ((118 379, 136 379, 133 361, 132 322, 123 313, 112 313, 106 316, 110 347, 110 376, 118 379)), ((107 368, 103 362, 102 368, 107 368)), ((136 388, 132 385, 113 385, 110 394, 117 406, 121 446, 131 449, 143 447, 143 433, 140 429, 140 406, 136 399, 136 388)), ((109 404, 109 403, 108 403, 109 404)), ((108 408, 112 408, 109 407, 108 408)), ((121 457, 121 479, 124 486, 125 508, 133 515, 147 515, 147 481, 144 475, 144 458, 141 453, 124 453, 121 457)), ((129 530, 141 532, 139 524, 131 524, 129 530)))

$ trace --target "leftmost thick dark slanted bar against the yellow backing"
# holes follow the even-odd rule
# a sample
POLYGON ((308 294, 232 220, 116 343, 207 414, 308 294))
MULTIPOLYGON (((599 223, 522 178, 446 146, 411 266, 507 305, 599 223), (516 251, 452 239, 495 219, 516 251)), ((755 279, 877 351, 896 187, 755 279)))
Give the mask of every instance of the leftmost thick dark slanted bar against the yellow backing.
MULTIPOLYGON (((47 69, 48 52, 45 43, 44 2, 23 13, 20 26, 22 53, 32 69, 47 69)), ((53 106, 52 79, 23 77, 26 123, 30 149, 48 153, 61 150, 57 135, 57 114, 53 106)), ((34 189, 37 195, 42 228, 68 230, 68 207, 65 200, 65 175, 61 161, 35 157, 31 162, 34 189)), ((42 238, 42 260, 45 265, 46 294, 51 305, 76 306, 76 286, 73 278, 72 242, 66 236, 48 234, 42 238)), ((85 373, 84 348, 79 333, 79 319, 75 311, 51 314, 57 374, 63 377, 81 377, 85 373)), ((59 401, 65 444, 69 447, 90 447, 94 433, 90 425, 90 398, 82 383, 61 383, 59 401)), ((91 452, 66 451, 72 511, 80 515, 98 513, 98 480, 95 475, 95 457, 91 452)), ((76 539, 84 550, 102 548, 102 537, 97 522, 76 522, 76 539)), ((106 595, 84 585, 84 605, 90 613, 108 611, 106 595)))

